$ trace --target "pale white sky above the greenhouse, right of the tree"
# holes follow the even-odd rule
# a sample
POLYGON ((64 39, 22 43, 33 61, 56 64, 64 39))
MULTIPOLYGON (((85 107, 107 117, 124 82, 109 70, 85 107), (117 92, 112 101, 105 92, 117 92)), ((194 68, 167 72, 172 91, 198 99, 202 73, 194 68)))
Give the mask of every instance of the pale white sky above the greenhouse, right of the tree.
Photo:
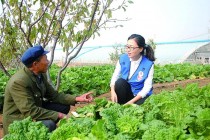
POLYGON ((128 17, 123 28, 101 31, 86 46, 124 44, 133 34, 146 41, 173 42, 210 39, 210 0, 133 0, 126 12, 115 16, 128 17))

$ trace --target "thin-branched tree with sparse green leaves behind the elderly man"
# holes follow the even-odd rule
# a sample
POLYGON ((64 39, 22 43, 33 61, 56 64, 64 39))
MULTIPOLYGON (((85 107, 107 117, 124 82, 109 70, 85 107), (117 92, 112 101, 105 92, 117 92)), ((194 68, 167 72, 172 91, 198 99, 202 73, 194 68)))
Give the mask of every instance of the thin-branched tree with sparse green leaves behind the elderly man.
MULTIPOLYGON (((114 28, 118 20, 113 12, 125 11, 130 0, 5 0, 0 17, 1 48, 10 48, 18 59, 22 52, 34 44, 50 49, 50 66, 56 47, 62 47, 65 60, 58 72, 56 89, 61 74, 74 59, 84 43, 104 28, 114 28)), ((3 56, 6 49, 0 50, 3 56), (3 51, 4 50, 4 51, 3 51)), ((49 74, 49 73, 48 73, 49 74)), ((50 76, 48 75, 48 78, 50 76)))

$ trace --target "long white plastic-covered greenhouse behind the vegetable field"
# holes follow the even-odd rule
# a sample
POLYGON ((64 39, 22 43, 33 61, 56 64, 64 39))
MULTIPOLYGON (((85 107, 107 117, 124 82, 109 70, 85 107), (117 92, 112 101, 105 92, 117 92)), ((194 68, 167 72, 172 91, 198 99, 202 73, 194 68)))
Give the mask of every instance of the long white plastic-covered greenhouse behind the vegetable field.
MULTIPOLYGON (((115 52, 116 45, 110 46, 92 46, 81 50, 72 63, 111 63, 110 54, 115 52)), ((123 45, 120 45, 118 52, 120 54, 123 45)), ((62 62, 64 54, 61 49, 55 53, 55 61, 62 62)), ((209 64, 210 43, 208 42, 180 42, 180 43, 157 43, 155 49, 156 64, 174 64, 174 63, 201 63, 209 64)))

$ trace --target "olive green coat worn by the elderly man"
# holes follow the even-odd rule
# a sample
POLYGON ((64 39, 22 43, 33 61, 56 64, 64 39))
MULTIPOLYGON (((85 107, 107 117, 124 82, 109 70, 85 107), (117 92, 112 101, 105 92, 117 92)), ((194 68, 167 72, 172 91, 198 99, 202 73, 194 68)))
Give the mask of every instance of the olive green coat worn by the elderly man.
POLYGON ((41 74, 43 84, 38 84, 35 75, 26 67, 19 70, 8 81, 5 89, 3 107, 4 135, 14 120, 22 120, 31 116, 34 120, 58 119, 58 112, 42 108, 43 100, 66 105, 75 105, 75 96, 59 94, 41 74))

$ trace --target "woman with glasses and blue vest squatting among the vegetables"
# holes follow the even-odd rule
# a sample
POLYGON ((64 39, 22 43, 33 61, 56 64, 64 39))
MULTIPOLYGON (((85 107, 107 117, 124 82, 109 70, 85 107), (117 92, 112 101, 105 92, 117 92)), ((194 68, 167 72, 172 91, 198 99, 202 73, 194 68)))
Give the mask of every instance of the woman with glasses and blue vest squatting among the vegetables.
POLYGON ((152 94, 154 51, 138 34, 128 38, 125 49, 111 79, 111 100, 140 105, 152 94))

